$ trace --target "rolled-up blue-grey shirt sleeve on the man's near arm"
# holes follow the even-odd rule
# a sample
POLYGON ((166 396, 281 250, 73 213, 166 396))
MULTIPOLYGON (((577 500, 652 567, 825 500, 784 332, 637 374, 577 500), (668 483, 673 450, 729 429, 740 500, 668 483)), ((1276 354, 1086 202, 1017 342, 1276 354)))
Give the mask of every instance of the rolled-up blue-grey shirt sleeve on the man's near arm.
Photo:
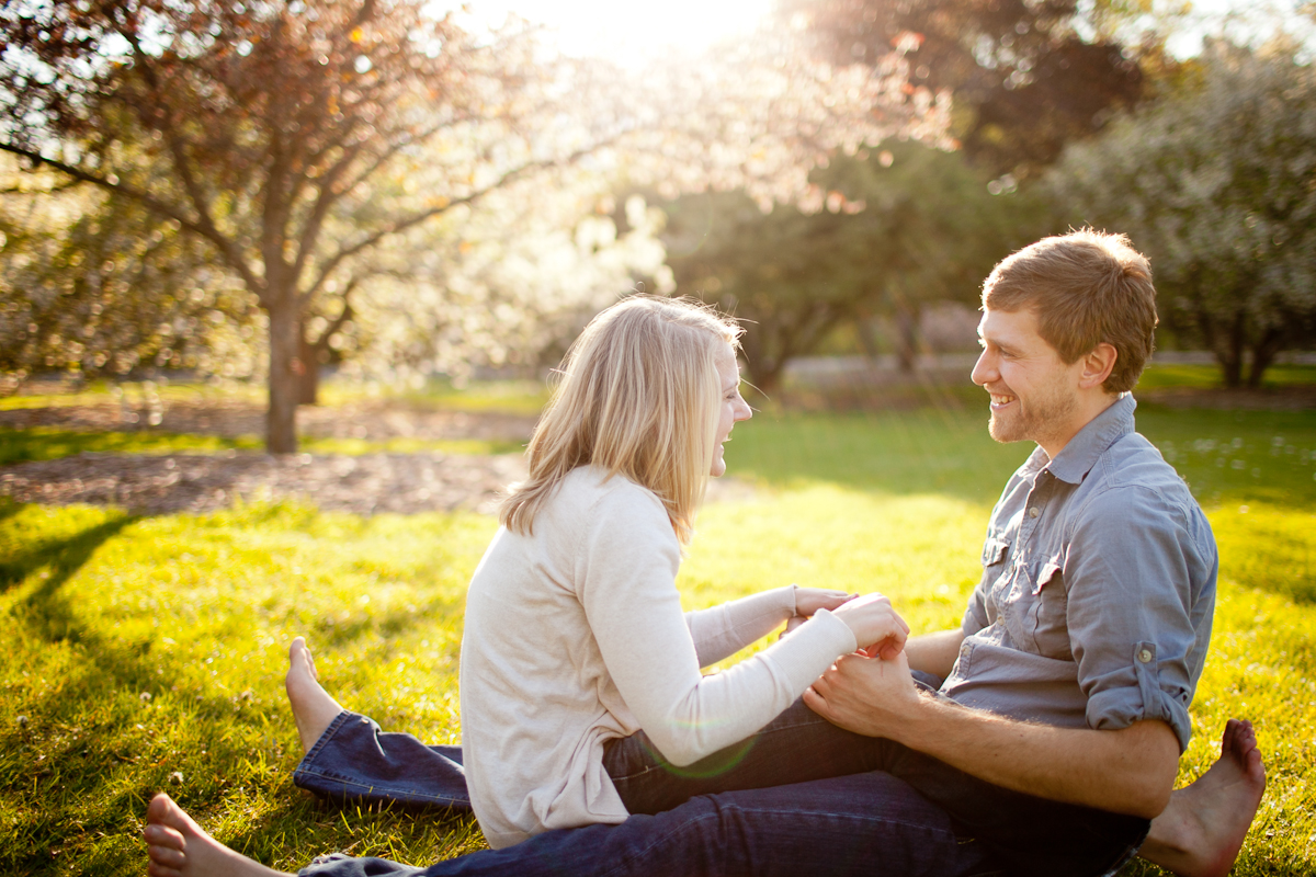
POLYGON ((1071 525, 1066 621, 1092 728, 1166 722, 1180 752, 1196 680, 1191 581, 1207 563, 1186 509, 1146 486, 1105 490, 1071 525))

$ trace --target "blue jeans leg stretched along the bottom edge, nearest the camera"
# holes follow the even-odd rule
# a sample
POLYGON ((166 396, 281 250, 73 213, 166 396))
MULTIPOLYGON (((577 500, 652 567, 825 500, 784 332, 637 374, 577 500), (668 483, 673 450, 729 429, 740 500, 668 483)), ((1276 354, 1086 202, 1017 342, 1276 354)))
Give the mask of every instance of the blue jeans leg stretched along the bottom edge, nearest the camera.
POLYGON ((950 818, 887 773, 700 795, 619 826, 536 835, 408 868, 317 859, 304 877, 970 877, 1003 873, 950 818))

